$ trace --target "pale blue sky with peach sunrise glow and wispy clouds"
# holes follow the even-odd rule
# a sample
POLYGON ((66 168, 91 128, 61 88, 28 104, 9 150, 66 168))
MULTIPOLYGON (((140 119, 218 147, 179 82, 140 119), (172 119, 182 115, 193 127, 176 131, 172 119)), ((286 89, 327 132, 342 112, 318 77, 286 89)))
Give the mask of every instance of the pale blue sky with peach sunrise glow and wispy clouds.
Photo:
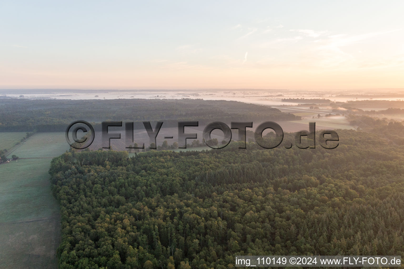
POLYGON ((404 88, 404 1, 2 1, 0 88, 404 88))

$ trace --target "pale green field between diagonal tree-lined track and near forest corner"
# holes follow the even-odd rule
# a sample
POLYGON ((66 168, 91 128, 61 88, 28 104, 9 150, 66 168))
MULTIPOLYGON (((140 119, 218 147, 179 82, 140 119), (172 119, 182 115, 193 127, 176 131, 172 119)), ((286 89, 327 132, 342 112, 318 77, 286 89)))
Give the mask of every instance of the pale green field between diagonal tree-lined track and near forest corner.
POLYGON ((69 144, 64 132, 35 133, 16 148, 13 154, 19 158, 56 157, 66 150, 69 150, 69 144))

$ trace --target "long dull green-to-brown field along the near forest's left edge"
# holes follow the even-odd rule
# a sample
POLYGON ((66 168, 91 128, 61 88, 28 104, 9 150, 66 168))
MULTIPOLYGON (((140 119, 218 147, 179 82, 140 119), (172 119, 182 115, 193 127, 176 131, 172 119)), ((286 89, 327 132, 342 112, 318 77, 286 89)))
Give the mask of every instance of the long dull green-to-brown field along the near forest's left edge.
POLYGON ((49 166, 50 159, 0 165, 2 269, 57 268, 60 218, 50 190, 49 166))

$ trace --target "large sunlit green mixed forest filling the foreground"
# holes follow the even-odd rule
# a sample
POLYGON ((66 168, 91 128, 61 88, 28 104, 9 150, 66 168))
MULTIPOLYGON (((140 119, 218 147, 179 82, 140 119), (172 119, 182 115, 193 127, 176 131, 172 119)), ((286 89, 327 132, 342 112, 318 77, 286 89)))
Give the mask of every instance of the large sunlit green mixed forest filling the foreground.
POLYGON ((52 161, 59 268, 233 268, 235 255, 404 256, 404 147, 68 152, 52 161))

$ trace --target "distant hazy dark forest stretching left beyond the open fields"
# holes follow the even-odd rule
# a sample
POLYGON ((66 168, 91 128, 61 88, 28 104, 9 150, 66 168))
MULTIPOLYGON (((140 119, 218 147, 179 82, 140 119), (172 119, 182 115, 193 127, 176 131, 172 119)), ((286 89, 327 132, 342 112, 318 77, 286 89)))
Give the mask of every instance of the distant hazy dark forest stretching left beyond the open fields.
MULTIPOLYGON (((0 99, 0 131, 64 131, 72 121, 283 121, 301 119, 276 108, 225 100, 113 99, 24 100, 0 99)), ((137 124, 138 123, 138 124, 137 124)), ((95 125, 97 127, 97 125, 95 125)))

